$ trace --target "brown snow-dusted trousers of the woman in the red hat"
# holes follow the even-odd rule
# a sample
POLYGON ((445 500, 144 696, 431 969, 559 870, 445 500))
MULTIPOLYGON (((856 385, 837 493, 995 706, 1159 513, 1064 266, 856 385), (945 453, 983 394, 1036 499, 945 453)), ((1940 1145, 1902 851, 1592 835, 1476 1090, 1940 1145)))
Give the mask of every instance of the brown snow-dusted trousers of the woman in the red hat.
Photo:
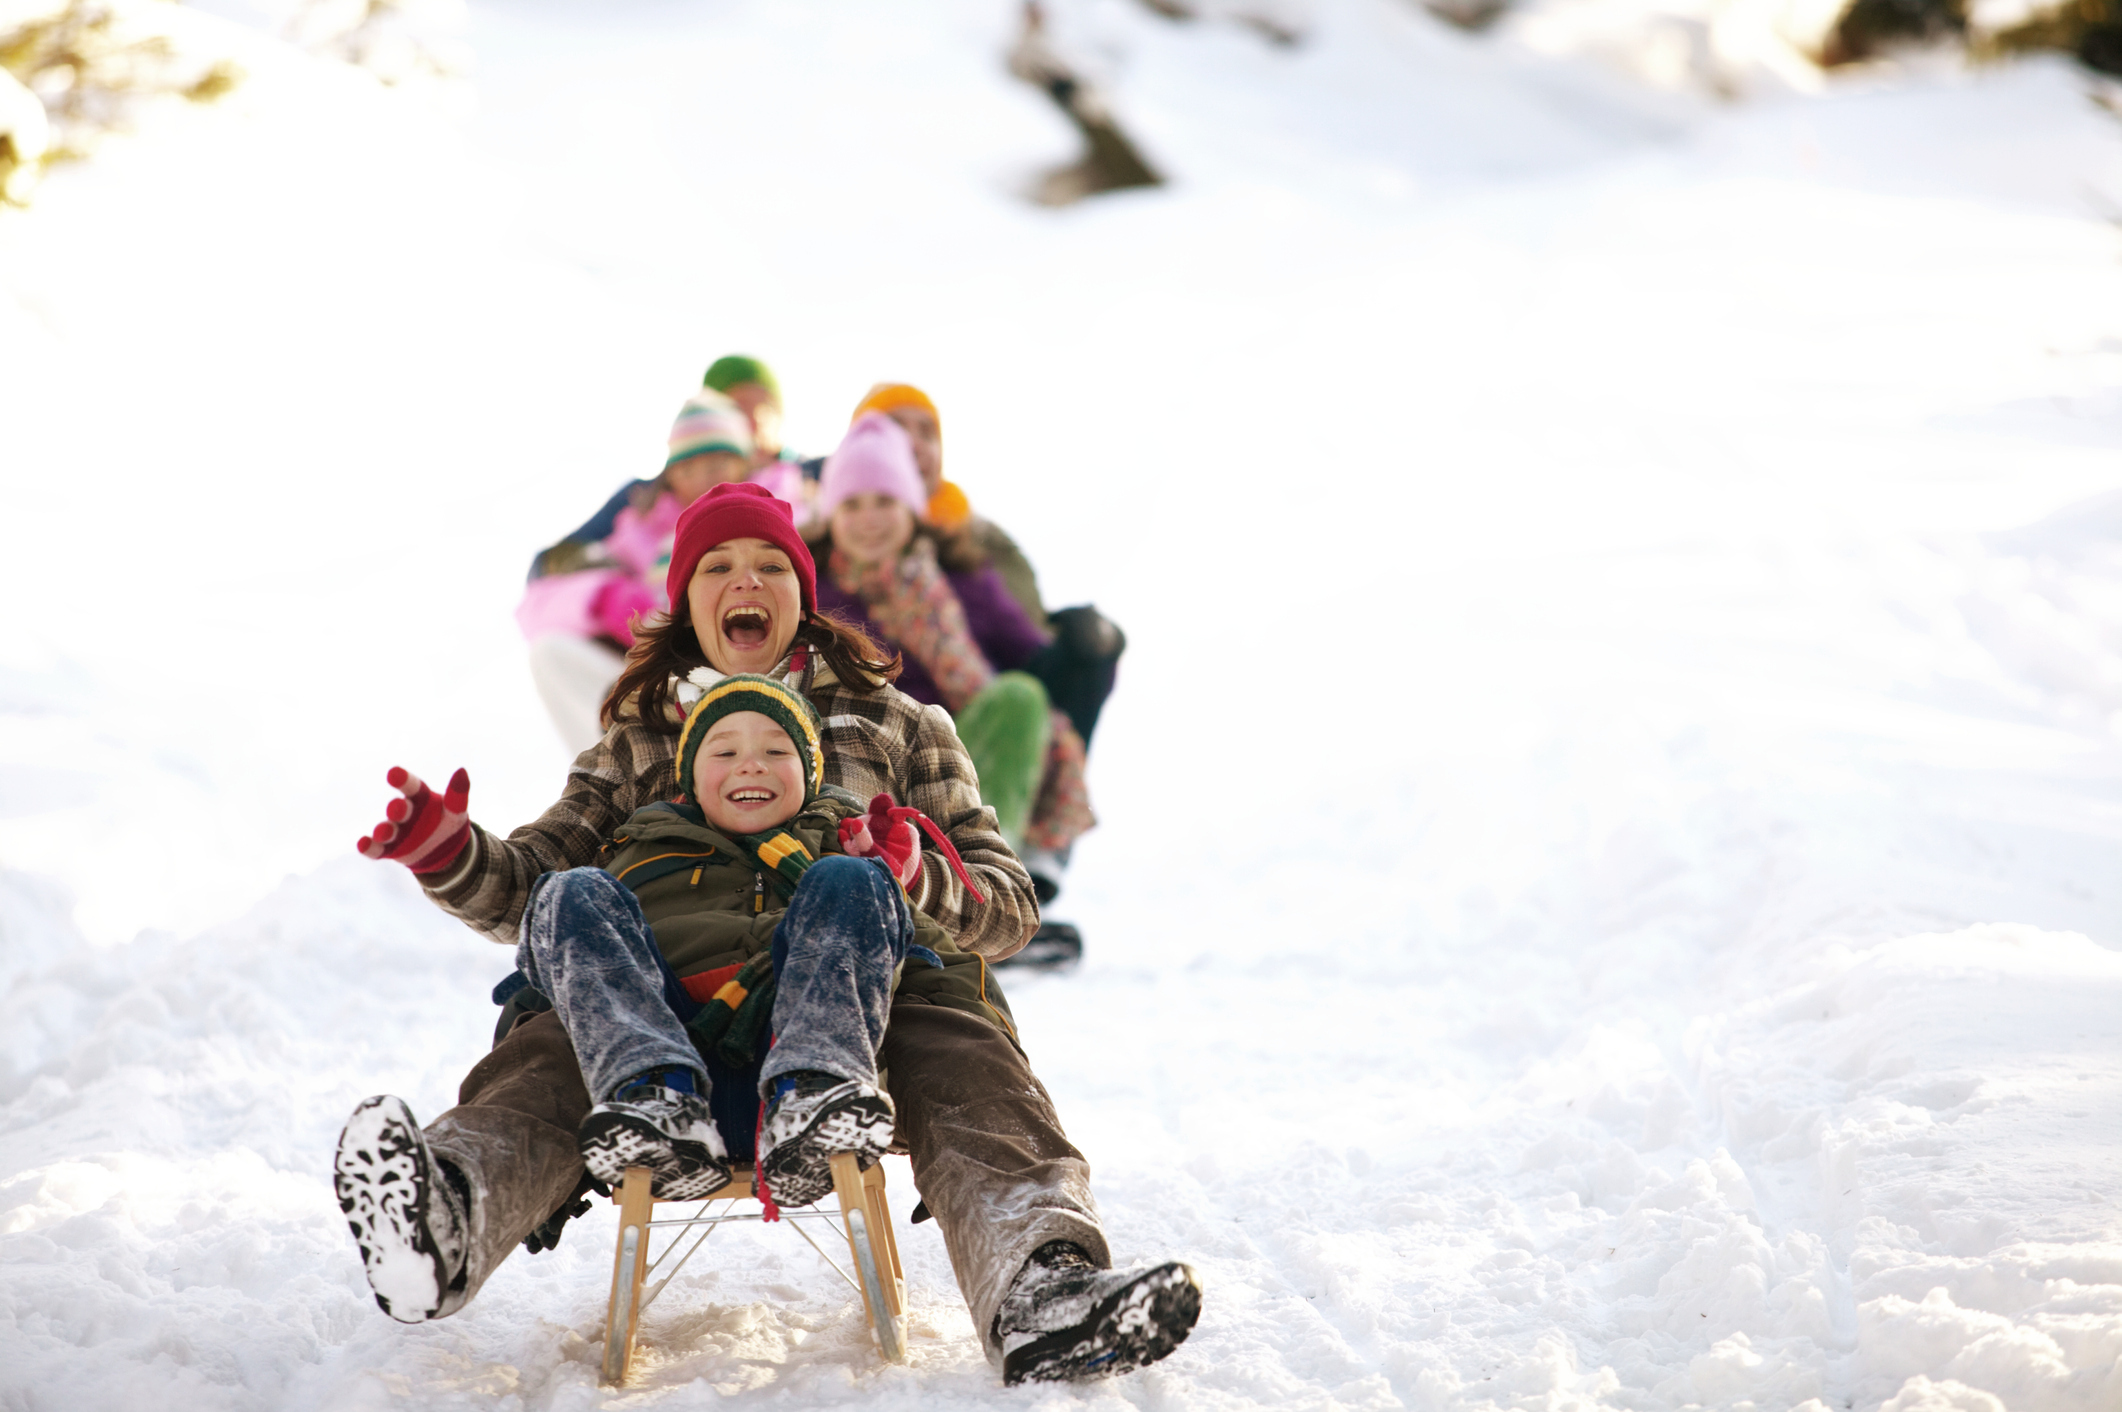
MULTIPOLYGON (((995 1310, 1031 1251, 1072 1240, 1108 1265, 1091 1166, 1061 1132, 1053 1098, 991 1023, 912 996, 891 1004, 876 1055, 898 1108, 898 1142, 942 1227, 951 1270, 989 1359, 995 1310)), ((575 1130, 590 1094, 567 1030, 533 1015, 473 1064, 429 1144, 471 1176, 473 1251, 454 1312, 581 1181, 575 1130)))

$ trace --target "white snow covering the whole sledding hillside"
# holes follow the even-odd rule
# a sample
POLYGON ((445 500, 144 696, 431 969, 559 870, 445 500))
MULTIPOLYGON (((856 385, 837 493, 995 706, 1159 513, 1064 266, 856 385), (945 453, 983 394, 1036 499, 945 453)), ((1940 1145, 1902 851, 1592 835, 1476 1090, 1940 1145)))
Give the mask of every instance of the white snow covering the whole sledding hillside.
MULTIPOLYGON (((2060 62, 1715 108, 1335 0, 1275 49, 1063 6, 473 4, 0 212, 0 1406, 989 1406, 717 1236, 603 1393, 611 1215, 369 1302, 352 1104, 431 1117, 503 951, 352 856, 382 771, 511 826, 509 609, 705 359, 792 440, 929 386, 1131 635, 1072 977, 1010 979, 1195 1338, 1025 1406, 2122 1401, 2122 125, 2060 62), (475 100, 475 102, 471 102, 475 100), (705 1265, 705 1268, 702 1268, 705 1265)), ((895 1208, 915 1202, 902 1164, 895 1208)))

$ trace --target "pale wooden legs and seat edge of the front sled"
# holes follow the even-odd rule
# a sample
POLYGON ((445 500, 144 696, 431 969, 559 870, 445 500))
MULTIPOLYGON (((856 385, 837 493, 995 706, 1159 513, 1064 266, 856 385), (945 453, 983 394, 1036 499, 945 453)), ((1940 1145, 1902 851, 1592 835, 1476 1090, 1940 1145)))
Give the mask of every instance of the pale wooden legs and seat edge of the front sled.
MULTIPOLYGON (((658 1206, 649 1193, 651 1183, 654 1174, 647 1168, 626 1168, 626 1178, 611 1193, 611 1202, 620 1208, 620 1240, 611 1255, 603 1380, 613 1387, 622 1387, 632 1372, 634 1346, 641 1338, 641 1287, 649 1270, 651 1225, 694 1225, 694 1221, 651 1221, 658 1206)), ((862 1310, 870 1321, 870 1333, 876 1336, 876 1348, 887 1361, 902 1363, 906 1361, 906 1272, 900 1265, 900 1242, 891 1229, 891 1204, 885 1200, 885 1168, 879 1164, 864 1172, 853 1155, 840 1155, 832 1161, 832 1185, 840 1204, 840 1229, 847 1234, 849 1255, 855 1257, 859 1278, 853 1285, 862 1291, 862 1310)), ((758 1200, 751 1168, 736 1168, 730 1185, 696 1200, 758 1200)), ((700 1210, 705 1212, 707 1206, 702 1204, 700 1210)), ((789 1215, 830 1219, 823 1210, 789 1215)), ((698 1219, 700 1225, 713 1221, 715 1217, 707 1215, 698 1219)), ((668 1280, 671 1276, 664 1276, 658 1289, 668 1280)))

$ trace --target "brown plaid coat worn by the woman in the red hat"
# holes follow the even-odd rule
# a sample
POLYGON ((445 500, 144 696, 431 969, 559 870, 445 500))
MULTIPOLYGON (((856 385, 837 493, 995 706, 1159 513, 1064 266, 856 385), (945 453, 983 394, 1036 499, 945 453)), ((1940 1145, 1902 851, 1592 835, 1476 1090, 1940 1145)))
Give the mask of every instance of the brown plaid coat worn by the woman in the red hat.
MULTIPOLYGON (((889 792, 936 820, 966 860, 987 902, 974 902, 940 854, 921 854, 912 905, 942 924, 966 951, 989 960, 1014 955, 1040 924, 1031 875, 995 830, 995 811, 980 803, 972 756, 942 707, 925 707, 891 686, 857 692, 838 682, 821 658, 794 675, 825 722, 825 784, 862 798, 889 792)), ((463 856, 420 877, 427 894, 471 930, 516 945, 524 902, 539 873, 596 864, 626 817, 677 796, 677 735, 660 735, 622 713, 605 739, 575 756, 560 800, 507 839, 477 824, 463 856)))

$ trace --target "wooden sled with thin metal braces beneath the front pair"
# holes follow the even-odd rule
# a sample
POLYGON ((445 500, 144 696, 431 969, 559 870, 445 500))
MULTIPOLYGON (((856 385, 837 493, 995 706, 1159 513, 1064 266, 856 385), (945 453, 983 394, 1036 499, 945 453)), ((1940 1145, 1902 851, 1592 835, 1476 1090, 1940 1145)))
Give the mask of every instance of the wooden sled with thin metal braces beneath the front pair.
MULTIPOLYGON (((641 1314, 656 1302, 685 1261, 694 1257, 715 1227, 734 1221, 764 1221, 762 1212, 738 1212, 738 1202, 758 1200, 751 1168, 736 1168, 730 1185, 705 1198, 690 1217, 658 1221, 656 1206, 690 1206, 692 1202, 658 1202, 649 1193, 649 1168, 626 1168, 620 1189, 611 1193, 620 1208, 620 1240, 611 1255, 611 1304, 605 1308, 605 1382, 622 1387, 632 1370, 634 1344, 641 1338, 641 1314), (721 1204, 721 1210, 709 1212, 721 1204), (649 1259, 649 1236, 658 1229, 673 1229, 662 1255, 649 1259), (698 1229, 698 1236, 692 1232, 698 1229), (692 1244, 685 1238, 692 1236, 692 1244), (679 1246, 685 1246, 679 1255, 679 1246), (649 1276, 662 1270, 664 1261, 677 1255, 677 1263, 654 1285, 649 1276), (643 1287, 647 1291, 643 1293, 643 1287)), ((887 1363, 906 1361, 906 1272, 900 1265, 900 1242, 891 1234, 891 1206, 885 1202, 885 1166, 879 1161, 864 1172, 853 1153, 838 1153, 832 1159, 832 1189, 840 1210, 821 1206, 804 1210, 783 1210, 781 1219, 817 1251, 834 1272, 862 1295, 862 1310, 870 1319, 876 1348, 887 1363), (806 1221, 823 1221, 847 1240, 853 1274, 821 1246, 806 1221)))

